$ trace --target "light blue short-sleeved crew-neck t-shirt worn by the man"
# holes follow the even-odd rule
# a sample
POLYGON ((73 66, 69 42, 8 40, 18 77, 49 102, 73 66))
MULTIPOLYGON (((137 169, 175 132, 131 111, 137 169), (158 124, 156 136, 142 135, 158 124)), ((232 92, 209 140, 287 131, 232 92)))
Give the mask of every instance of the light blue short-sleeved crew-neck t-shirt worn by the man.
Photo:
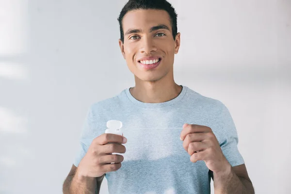
POLYGON ((184 123, 210 127, 228 162, 232 166, 244 163, 226 106, 183 86, 178 97, 167 102, 138 101, 128 88, 93 104, 81 133, 75 166, 92 140, 105 132, 108 120, 122 121, 128 139, 121 168, 105 175, 110 194, 210 194, 205 162, 191 162, 182 146, 184 123))

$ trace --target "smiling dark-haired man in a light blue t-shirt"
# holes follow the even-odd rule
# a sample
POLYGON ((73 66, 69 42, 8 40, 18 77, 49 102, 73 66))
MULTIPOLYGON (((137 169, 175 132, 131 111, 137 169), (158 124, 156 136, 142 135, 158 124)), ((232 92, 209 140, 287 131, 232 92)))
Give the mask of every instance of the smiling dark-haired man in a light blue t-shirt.
POLYGON ((171 4, 129 0, 118 20, 135 86, 91 106, 64 193, 99 193, 106 176, 110 194, 210 194, 210 178, 215 194, 253 194, 227 108, 174 81, 171 4), (123 122, 124 137, 104 134, 108 120, 123 122))

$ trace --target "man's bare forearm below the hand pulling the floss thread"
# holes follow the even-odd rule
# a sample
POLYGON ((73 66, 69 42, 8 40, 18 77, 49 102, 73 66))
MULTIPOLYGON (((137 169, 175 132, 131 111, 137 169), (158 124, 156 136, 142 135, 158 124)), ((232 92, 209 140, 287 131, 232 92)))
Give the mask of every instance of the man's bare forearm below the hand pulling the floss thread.
POLYGON ((215 194, 255 194, 244 164, 231 167, 222 173, 211 175, 215 194))

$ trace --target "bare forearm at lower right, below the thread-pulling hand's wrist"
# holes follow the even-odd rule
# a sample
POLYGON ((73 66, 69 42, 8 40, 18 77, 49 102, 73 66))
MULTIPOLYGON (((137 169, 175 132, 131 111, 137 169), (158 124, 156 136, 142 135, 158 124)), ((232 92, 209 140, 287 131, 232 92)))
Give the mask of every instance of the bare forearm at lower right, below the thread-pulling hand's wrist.
POLYGON ((223 174, 213 173, 215 194, 255 194, 250 180, 238 177, 230 167, 223 174))

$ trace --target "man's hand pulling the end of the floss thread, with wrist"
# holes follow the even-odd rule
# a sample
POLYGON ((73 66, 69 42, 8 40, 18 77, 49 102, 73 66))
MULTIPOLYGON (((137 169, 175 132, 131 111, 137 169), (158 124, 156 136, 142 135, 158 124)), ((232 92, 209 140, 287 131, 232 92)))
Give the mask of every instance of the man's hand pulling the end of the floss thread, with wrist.
POLYGON ((231 166, 209 127, 184 124, 180 135, 191 162, 204 161, 213 172, 225 172, 231 166))

